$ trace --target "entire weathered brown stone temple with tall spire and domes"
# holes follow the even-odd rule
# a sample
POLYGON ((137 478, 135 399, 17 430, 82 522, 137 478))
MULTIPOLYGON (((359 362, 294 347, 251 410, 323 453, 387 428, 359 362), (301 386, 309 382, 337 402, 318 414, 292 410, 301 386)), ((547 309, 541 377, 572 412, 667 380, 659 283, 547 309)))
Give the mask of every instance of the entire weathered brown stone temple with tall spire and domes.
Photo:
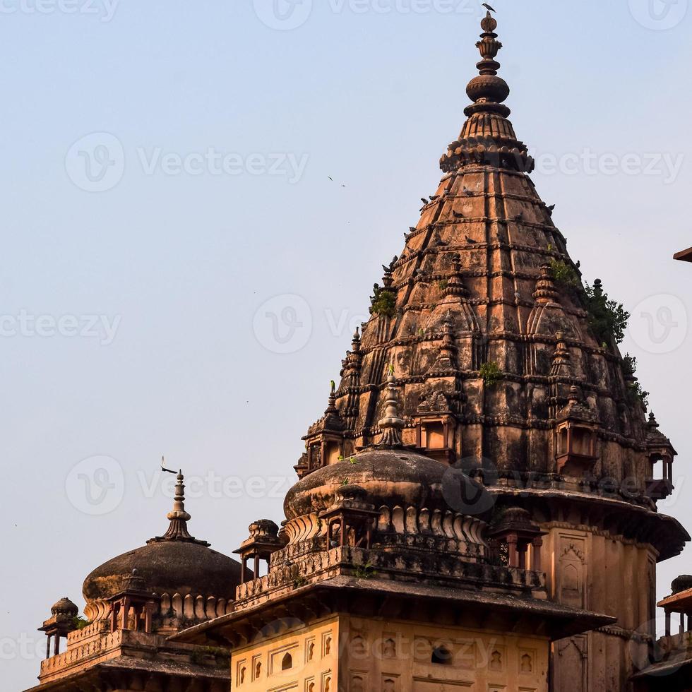
POLYGON ((689 540, 657 511, 676 452, 529 177, 481 25, 467 119, 280 525, 216 553, 179 475, 167 533, 85 580, 85 621, 54 605, 35 691, 692 688, 692 578, 655 627, 657 563, 689 540))

